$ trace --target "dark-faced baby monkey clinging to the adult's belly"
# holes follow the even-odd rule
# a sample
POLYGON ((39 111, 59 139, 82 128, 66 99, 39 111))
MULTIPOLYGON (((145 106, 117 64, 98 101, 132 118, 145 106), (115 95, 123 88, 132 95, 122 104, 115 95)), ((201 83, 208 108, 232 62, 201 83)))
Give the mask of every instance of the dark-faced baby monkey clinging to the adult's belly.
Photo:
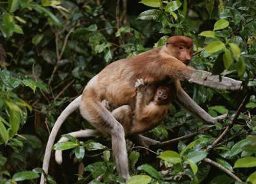
MULTIPOLYGON (((170 102, 175 100, 176 93, 172 86, 160 86, 154 98, 146 104, 146 85, 143 79, 137 79, 136 105, 134 113, 129 105, 123 105, 112 111, 113 116, 123 126, 125 134, 139 134, 156 127, 166 116, 170 102)), ((102 101, 103 106, 110 110, 109 102, 102 101)))

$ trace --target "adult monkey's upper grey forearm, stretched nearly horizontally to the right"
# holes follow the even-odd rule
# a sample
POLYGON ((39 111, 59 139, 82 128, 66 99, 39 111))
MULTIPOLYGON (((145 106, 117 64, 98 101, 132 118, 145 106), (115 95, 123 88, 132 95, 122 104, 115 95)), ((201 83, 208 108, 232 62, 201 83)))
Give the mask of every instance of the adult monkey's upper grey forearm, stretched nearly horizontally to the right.
POLYGON ((200 85, 213 87, 216 89, 242 89, 242 81, 234 80, 228 77, 220 77, 219 75, 212 75, 210 72, 195 70, 190 77, 187 78, 188 82, 194 82, 200 85))

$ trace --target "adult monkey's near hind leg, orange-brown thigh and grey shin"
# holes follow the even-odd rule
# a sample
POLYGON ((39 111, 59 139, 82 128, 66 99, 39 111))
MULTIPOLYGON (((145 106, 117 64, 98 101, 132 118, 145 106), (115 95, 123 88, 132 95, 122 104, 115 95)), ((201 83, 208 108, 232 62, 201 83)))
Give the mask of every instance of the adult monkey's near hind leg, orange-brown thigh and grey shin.
POLYGON ((111 135, 113 156, 119 176, 129 178, 128 158, 123 126, 90 91, 83 91, 80 112, 100 132, 111 135))

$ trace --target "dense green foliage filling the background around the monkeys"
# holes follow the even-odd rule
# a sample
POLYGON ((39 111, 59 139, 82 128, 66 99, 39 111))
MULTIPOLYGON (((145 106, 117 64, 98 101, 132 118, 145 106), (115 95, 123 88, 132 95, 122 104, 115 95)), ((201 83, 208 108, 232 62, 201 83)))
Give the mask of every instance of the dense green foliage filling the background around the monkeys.
MULTIPOLYGON (((38 182, 61 110, 105 65, 172 35, 193 38, 192 67, 244 86, 227 91, 183 83, 211 116, 229 118, 207 125, 173 103, 146 136, 181 139, 150 151, 128 142, 133 176, 127 183, 256 183, 254 0, 8 0, 0 1, 0 15, 0 183, 38 182)), ((76 112, 60 135, 85 128, 92 127, 76 112)), ((55 145, 69 151, 61 167, 52 160, 49 183, 125 182, 116 174, 110 141, 69 138, 55 145)))

